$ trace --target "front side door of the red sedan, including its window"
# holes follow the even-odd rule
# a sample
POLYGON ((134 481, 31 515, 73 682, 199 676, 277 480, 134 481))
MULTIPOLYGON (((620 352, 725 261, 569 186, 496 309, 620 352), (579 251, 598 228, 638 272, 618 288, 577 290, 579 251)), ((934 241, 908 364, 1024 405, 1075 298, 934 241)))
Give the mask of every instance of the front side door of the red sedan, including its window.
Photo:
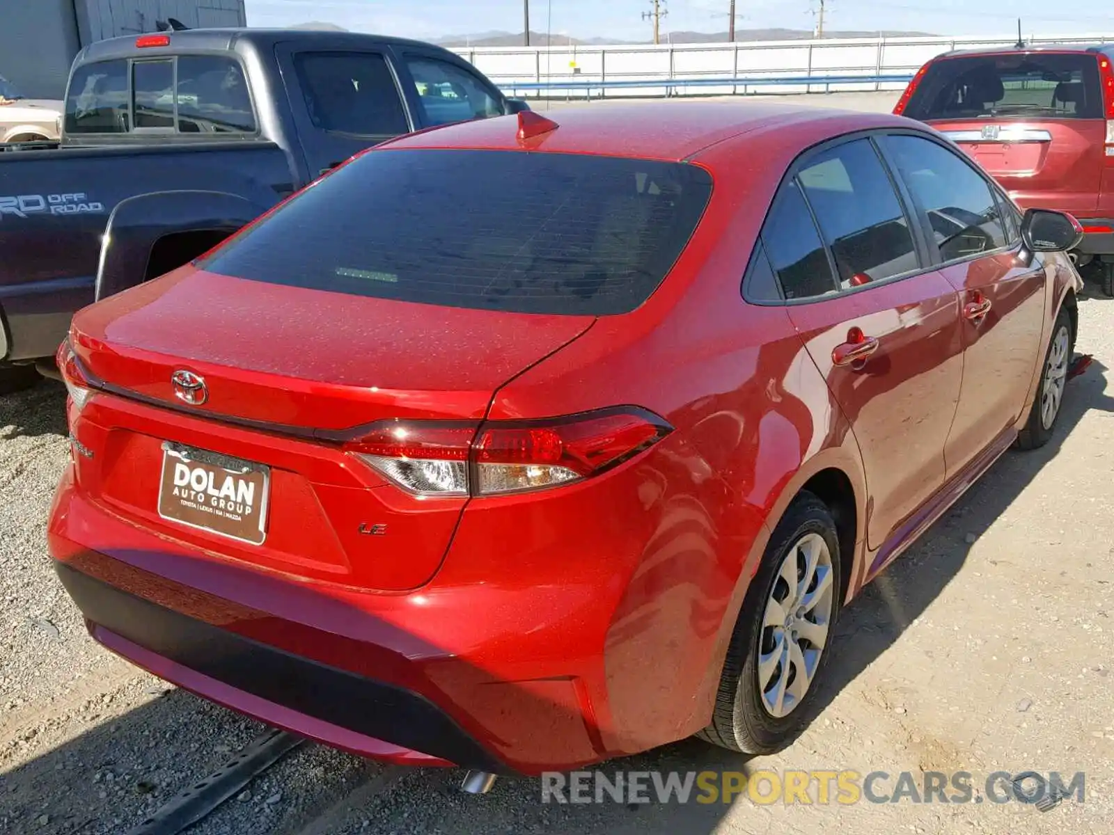
POLYGON ((960 154, 921 136, 883 150, 912 196, 934 263, 961 294, 964 387, 945 449, 954 475, 1020 418, 1040 352, 1047 277, 1019 261, 1013 209, 960 154))

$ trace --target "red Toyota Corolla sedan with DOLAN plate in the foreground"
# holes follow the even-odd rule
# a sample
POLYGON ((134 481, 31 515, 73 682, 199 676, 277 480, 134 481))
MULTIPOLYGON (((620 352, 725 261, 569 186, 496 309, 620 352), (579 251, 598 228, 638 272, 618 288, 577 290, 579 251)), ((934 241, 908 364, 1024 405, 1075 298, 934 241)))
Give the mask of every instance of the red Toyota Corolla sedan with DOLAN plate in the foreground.
POLYGON ((94 638, 393 762, 800 733, 840 607, 1053 432, 1078 225, 897 116, 557 119, 379 146, 75 317, 94 638))

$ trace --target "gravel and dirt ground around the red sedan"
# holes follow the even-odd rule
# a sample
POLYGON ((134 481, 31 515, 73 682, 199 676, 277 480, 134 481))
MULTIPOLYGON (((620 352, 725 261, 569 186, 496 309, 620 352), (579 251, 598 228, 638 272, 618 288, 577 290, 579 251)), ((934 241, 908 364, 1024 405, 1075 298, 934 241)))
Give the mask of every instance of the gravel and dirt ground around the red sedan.
MULTIPOLYGON (((1108 833, 1114 819, 1114 303, 1081 303, 1091 369, 1053 442, 1009 453, 856 601, 839 627, 825 709, 790 750, 746 760, 690 740, 615 770, 969 772, 970 804, 540 802, 536 780, 485 797, 461 774, 382 767, 306 745, 190 832, 1108 833), (1085 803, 989 802, 994 772, 1086 773, 1085 803), (987 800, 980 803, 979 798, 987 800), (837 821, 837 815, 841 817, 837 821)), ((99 649, 43 540, 61 470, 63 394, 0 397, 0 832, 118 833, 263 728, 99 649)))

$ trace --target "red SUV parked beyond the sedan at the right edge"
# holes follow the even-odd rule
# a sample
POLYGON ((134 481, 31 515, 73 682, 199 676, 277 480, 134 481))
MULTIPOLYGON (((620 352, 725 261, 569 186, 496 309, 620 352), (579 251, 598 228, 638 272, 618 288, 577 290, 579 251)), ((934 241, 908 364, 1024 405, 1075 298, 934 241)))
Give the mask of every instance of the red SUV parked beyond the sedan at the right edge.
POLYGON ((1018 46, 925 65, 895 112, 928 122, 1023 207, 1069 212, 1114 296, 1114 47, 1018 46))

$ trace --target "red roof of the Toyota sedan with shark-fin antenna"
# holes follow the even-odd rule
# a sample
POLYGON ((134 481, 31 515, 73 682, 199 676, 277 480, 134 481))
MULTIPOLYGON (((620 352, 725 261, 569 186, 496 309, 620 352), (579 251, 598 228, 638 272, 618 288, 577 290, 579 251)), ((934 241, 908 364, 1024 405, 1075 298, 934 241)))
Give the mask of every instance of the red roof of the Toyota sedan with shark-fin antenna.
POLYGON ((504 116, 422 130, 379 147, 541 150, 681 161, 727 139, 771 130, 782 131, 786 145, 797 143, 803 149, 822 141, 824 135, 834 137, 870 128, 924 127, 889 114, 764 101, 674 100, 585 105, 551 111, 543 108, 535 112, 553 119, 558 127, 519 143, 518 117, 504 116))

